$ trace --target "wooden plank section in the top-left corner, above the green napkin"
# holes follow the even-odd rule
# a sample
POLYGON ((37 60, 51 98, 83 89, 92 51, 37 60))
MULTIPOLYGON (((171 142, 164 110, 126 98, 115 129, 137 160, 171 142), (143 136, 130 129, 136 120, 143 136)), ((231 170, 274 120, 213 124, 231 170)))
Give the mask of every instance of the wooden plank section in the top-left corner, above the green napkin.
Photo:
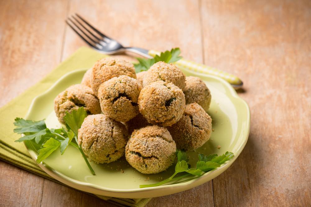
POLYGON ((67 1, 0 1, 0 106, 59 63, 66 16, 67 1))

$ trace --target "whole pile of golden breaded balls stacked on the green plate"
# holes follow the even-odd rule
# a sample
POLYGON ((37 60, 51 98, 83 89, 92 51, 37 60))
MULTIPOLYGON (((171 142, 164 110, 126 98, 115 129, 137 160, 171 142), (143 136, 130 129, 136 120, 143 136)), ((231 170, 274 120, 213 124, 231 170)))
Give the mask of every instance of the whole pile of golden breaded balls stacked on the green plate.
POLYGON ((176 149, 207 142, 210 103, 205 83, 173 64, 157 62, 136 74, 132 63, 104 58, 55 98, 54 109, 64 124, 66 112, 84 107, 78 144, 91 160, 110 163, 125 154, 133 168, 150 174, 172 165, 176 149))

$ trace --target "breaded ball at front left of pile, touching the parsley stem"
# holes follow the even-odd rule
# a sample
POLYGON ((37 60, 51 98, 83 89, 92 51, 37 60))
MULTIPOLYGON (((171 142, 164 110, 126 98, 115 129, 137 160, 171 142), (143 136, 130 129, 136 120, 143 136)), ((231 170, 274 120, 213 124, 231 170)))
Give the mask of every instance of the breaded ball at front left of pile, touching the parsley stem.
POLYGON ((125 126, 103 114, 87 116, 78 130, 83 152, 97 163, 109 163, 124 155, 128 141, 125 126))

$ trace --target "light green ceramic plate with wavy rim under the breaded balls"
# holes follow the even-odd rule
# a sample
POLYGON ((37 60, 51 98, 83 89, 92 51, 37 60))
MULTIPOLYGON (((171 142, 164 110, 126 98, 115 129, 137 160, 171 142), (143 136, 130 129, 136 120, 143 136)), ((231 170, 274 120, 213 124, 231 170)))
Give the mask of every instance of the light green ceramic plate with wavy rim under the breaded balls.
MULTIPOLYGON (((64 75, 48 91, 36 97, 26 115, 26 119, 46 119, 48 128, 60 126, 54 114, 53 100, 58 93, 72 84, 81 82, 86 70, 77 70, 64 75)), ((189 153, 190 164, 197 162, 197 154, 218 155, 231 151, 234 158, 216 170, 204 174, 202 177, 184 182, 159 187, 139 188, 140 184, 151 184, 168 178, 174 173, 174 164, 165 172, 145 175, 132 168, 121 158, 109 164, 96 164, 91 162, 96 175, 93 176, 87 168, 81 154, 77 149, 69 146, 63 155, 53 152, 44 163, 39 166, 56 180, 81 191, 102 196, 119 198, 148 198, 165 196, 196 187, 224 172, 239 156, 243 150, 249 133, 250 111, 244 100, 238 97, 235 90, 224 80, 210 75, 202 75, 183 69, 188 75, 200 77, 211 91, 212 101, 208 114, 213 122, 211 138, 201 148, 189 153), (221 146, 220 149, 217 146, 221 146)), ((33 141, 25 143, 34 160, 37 158, 39 146, 33 141)))

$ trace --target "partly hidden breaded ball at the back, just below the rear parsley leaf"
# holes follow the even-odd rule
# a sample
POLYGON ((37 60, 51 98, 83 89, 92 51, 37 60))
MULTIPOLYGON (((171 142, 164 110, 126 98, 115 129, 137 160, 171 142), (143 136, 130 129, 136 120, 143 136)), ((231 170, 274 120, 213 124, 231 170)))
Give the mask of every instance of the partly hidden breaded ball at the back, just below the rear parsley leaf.
POLYGON ((153 64, 145 75, 143 87, 149 83, 162 80, 165 83, 173 83, 175 86, 183 89, 186 86, 186 76, 176 65, 165 62, 157 62, 153 64))

